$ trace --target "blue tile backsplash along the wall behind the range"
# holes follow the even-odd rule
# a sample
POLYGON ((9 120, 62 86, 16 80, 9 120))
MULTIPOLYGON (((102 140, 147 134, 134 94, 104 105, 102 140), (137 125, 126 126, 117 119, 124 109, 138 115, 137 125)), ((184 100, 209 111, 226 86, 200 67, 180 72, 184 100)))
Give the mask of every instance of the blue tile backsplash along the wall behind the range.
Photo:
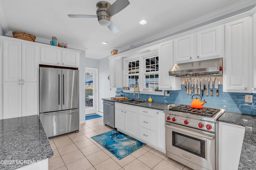
MULTIPOLYGON (((166 103, 166 104, 186 104, 190 105, 192 102, 192 95, 186 93, 185 86, 181 85, 182 90, 170 91, 171 96, 165 97, 161 95, 152 95, 152 94, 140 94, 140 100, 147 99, 149 96, 153 99, 153 102, 166 103)), ((133 96, 133 93, 124 93, 121 90, 121 95, 126 96, 128 98, 136 99, 136 94, 133 96)), ((194 96, 196 98, 198 96, 194 96)), ((200 97, 198 97, 200 99, 200 97)), ((206 100, 206 104, 204 107, 214 107, 225 109, 226 111, 235 112, 235 113, 243 113, 249 115, 256 115, 256 94, 253 93, 231 93, 231 92, 223 92, 223 86, 219 85, 219 96, 216 96, 216 89, 213 89, 213 96, 209 94, 206 96, 206 91, 204 91, 204 96, 202 101, 206 100), (245 94, 253 95, 253 103, 245 102, 245 94)))

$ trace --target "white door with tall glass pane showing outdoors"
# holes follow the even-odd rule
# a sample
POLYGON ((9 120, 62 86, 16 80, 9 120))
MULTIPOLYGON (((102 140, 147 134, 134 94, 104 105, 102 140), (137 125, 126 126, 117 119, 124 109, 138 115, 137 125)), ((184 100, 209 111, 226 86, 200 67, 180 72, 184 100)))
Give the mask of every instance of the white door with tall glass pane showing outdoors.
POLYGON ((85 115, 96 113, 97 70, 96 68, 85 68, 85 115))

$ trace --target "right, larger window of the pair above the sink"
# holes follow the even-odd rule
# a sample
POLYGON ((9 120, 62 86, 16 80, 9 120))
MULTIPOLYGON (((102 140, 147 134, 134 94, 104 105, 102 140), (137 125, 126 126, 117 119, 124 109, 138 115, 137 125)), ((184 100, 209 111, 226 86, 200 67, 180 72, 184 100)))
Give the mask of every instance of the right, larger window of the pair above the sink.
POLYGON ((144 88, 156 88, 158 86, 158 56, 145 58, 144 88))

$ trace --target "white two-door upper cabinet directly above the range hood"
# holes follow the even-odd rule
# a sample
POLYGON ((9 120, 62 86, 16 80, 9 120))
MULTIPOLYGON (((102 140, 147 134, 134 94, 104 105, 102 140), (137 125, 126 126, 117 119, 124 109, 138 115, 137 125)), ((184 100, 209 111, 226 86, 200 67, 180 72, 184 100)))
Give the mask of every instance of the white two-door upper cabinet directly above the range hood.
POLYGON ((223 57, 224 26, 174 39, 174 64, 223 57))

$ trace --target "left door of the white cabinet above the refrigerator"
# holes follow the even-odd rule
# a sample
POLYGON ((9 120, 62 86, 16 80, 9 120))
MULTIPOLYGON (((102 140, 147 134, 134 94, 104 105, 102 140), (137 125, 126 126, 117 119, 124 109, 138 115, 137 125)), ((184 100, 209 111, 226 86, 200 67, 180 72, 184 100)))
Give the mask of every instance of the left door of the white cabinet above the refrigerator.
POLYGON ((41 47, 40 63, 59 65, 60 50, 58 47, 41 47))

